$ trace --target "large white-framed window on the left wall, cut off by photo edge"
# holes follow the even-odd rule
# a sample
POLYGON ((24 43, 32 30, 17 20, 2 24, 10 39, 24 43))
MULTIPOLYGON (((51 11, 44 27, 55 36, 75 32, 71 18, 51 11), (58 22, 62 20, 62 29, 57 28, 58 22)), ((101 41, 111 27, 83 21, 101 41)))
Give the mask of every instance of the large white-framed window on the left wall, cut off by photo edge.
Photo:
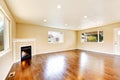
POLYGON ((0 10, 0 53, 9 49, 10 21, 0 10))

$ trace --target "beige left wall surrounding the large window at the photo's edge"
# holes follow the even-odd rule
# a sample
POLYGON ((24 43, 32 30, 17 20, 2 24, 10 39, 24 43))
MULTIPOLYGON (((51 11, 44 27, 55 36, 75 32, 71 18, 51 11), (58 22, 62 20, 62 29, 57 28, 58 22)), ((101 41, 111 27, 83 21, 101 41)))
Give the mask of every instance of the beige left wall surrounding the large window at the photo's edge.
POLYGON ((8 15, 10 19, 10 52, 0 56, 0 80, 5 80, 5 77, 7 76, 11 65, 13 63, 13 57, 12 57, 12 38, 16 37, 16 23, 14 22, 13 17, 11 16, 8 8, 6 7, 6 4, 4 0, 0 0, 0 7, 4 10, 4 12, 8 15))

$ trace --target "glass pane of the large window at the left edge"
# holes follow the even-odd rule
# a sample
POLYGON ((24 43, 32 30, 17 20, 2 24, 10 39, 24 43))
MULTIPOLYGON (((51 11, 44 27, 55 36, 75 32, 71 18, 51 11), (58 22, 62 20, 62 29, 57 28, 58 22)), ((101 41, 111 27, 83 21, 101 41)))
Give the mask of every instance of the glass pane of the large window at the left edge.
POLYGON ((0 51, 4 50, 4 15, 0 11, 0 51))

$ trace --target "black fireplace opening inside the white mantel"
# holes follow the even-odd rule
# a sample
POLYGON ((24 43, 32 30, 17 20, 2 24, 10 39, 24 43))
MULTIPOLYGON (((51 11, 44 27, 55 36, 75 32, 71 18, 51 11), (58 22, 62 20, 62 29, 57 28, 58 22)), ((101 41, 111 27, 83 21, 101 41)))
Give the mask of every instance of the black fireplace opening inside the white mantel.
POLYGON ((21 61, 31 59, 31 46, 21 47, 21 61))

